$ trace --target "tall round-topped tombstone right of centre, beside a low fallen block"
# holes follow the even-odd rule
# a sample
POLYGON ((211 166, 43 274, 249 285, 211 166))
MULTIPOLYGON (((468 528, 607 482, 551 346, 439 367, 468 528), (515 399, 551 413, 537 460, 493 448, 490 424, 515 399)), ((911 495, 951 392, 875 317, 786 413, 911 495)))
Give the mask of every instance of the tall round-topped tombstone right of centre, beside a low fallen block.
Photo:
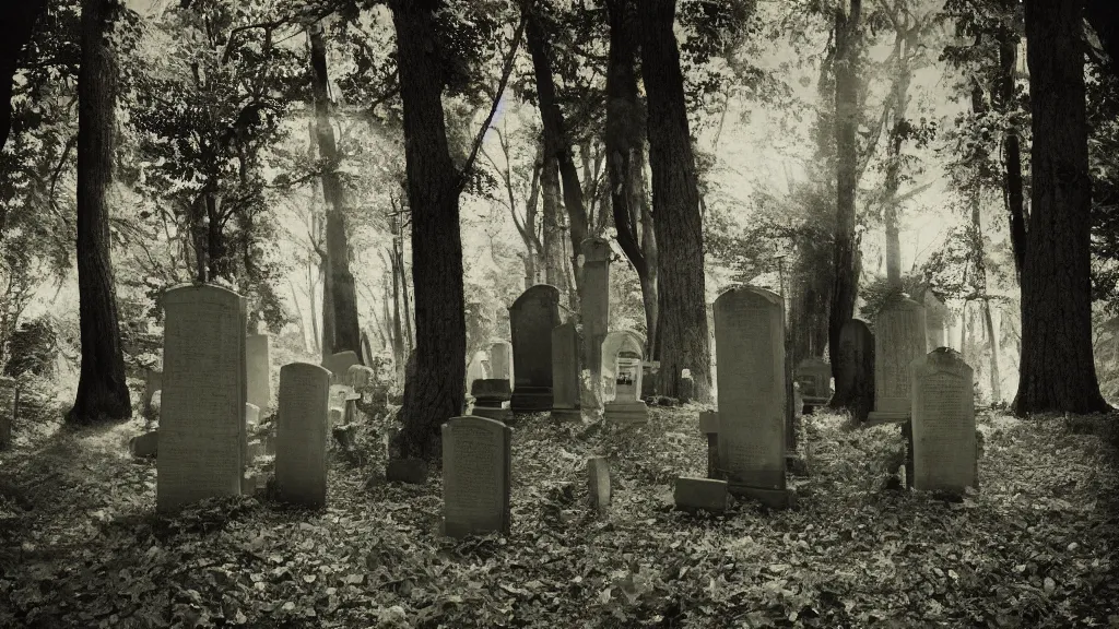
POLYGON ((732 494, 788 506, 784 306, 756 287, 715 300, 718 460, 732 494))

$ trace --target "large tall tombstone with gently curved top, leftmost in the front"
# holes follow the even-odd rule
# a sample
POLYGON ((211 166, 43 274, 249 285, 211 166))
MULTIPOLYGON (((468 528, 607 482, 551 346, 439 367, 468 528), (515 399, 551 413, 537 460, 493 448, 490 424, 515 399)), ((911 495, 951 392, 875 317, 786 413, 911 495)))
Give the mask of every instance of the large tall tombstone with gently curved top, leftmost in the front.
POLYGON ((156 507, 239 496, 248 450, 245 298, 210 284, 163 294, 156 507))

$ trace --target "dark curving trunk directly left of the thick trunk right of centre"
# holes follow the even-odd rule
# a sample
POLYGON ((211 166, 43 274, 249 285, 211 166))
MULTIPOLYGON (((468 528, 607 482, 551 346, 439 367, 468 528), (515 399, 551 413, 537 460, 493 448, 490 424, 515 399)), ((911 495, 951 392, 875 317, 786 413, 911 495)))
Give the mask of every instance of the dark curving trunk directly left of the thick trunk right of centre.
POLYGON ((608 0, 610 58, 606 71, 606 176, 618 245, 637 271, 645 304, 646 356, 656 355, 659 302, 657 238, 646 200, 646 112, 637 88, 637 40, 630 0, 608 0))

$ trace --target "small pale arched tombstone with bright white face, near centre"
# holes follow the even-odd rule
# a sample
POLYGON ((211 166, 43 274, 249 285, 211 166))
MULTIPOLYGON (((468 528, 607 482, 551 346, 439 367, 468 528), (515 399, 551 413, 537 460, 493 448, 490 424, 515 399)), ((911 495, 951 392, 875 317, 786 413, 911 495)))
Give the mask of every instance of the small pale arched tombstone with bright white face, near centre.
POLYGON ((637 332, 623 330, 606 335, 602 344, 602 372, 608 422, 643 424, 649 421, 649 409, 641 401, 643 351, 645 338, 637 332))

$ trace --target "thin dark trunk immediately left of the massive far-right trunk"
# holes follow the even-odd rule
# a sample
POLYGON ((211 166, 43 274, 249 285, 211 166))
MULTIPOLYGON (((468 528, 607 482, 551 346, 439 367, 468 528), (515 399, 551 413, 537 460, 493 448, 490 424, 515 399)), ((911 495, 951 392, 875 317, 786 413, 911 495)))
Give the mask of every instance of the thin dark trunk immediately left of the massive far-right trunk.
MULTIPOLYGON (((1003 10, 1010 15, 1016 12, 1018 0, 1003 0, 1003 10)), ((1018 31, 1014 25, 1003 25, 998 31, 998 77, 996 79, 996 98, 1003 114, 1009 114, 1008 128, 1004 132, 1005 150, 1003 185, 1006 210, 1010 224, 1010 250, 1014 252, 1014 270, 1022 282, 1022 270, 1026 256, 1026 210, 1022 184, 1022 148, 1016 124, 1017 110, 1015 103, 1014 71, 1018 65, 1018 31)))

